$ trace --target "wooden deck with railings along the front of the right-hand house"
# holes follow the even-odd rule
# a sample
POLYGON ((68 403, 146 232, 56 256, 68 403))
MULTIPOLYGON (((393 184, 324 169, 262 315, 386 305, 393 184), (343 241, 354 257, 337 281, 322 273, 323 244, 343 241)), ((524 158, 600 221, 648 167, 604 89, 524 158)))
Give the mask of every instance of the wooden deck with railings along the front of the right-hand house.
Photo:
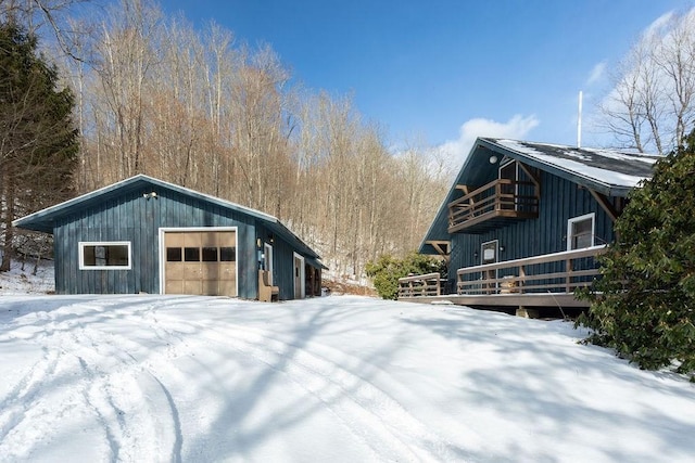
POLYGON ((456 294, 441 294, 441 282, 437 294, 406 291, 431 288, 439 279, 438 273, 407 276, 399 280, 403 288, 399 299, 481 307, 586 308, 586 301, 574 298, 574 290, 590 285, 599 275, 595 258, 605 252, 606 246, 593 246, 458 269, 456 294))

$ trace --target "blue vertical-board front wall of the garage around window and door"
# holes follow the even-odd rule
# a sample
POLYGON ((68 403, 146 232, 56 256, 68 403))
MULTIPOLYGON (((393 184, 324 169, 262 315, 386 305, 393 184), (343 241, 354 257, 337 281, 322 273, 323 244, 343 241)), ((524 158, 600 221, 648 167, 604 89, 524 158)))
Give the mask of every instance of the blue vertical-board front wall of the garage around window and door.
POLYGON ((79 210, 54 229, 59 294, 160 293, 160 228, 237 227, 239 297, 257 295, 256 220, 175 191, 129 192, 79 210), (130 270, 79 270, 79 242, 128 241, 130 270))

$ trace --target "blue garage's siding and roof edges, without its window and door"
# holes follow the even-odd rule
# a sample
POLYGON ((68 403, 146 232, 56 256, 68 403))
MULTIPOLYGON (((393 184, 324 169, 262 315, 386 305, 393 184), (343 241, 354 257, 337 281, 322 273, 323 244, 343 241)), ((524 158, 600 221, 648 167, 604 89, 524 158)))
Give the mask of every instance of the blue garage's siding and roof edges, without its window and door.
POLYGON ((146 176, 35 213, 15 226, 53 234, 59 294, 162 293, 160 240, 172 229, 235 230, 241 298, 258 295, 263 243, 274 247, 274 284, 281 299, 294 298, 293 253, 320 266, 318 255, 274 217, 146 176), (130 268, 80 270, 80 242, 129 243, 130 268))

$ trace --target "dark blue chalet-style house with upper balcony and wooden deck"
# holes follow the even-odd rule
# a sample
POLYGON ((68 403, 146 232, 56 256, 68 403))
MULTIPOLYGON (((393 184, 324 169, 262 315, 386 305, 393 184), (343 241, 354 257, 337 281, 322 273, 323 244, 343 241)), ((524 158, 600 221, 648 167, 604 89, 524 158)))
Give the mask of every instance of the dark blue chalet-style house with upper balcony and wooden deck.
POLYGON ((584 307, 628 193, 657 156, 479 138, 419 253, 448 275, 402 279, 401 295, 488 307, 584 307))

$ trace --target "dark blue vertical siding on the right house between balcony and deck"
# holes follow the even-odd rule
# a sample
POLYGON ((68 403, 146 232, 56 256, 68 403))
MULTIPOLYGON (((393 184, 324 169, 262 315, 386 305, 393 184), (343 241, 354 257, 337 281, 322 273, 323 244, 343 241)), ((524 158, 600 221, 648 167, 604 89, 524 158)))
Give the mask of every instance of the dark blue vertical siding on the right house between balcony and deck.
MULTIPOLYGON (((456 280, 456 270, 480 265, 482 243, 498 240, 504 246, 500 260, 513 260, 567 249, 567 221, 572 217, 595 213, 595 244, 614 240, 612 221, 583 188, 548 172, 541 172, 541 202, 539 218, 509 221, 507 226, 482 234, 455 233, 452 235, 452 257, 448 271, 450 285, 456 280), (475 254, 478 253, 478 258, 475 254)), ((452 286, 455 287, 455 286, 452 286)))

